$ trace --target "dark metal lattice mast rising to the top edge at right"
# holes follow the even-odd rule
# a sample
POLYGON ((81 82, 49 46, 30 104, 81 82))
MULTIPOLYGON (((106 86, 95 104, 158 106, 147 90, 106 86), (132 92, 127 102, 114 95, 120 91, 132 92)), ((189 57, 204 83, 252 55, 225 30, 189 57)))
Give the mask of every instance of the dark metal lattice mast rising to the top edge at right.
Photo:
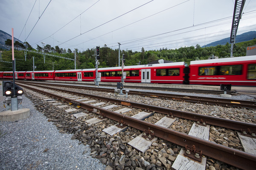
POLYGON ((231 43, 230 57, 233 57, 233 46, 236 43, 236 32, 238 29, 239 21, 242 16, 244 3, 245 3, 245 0, 236 0, 235 2, 232 28, 231 28, 231 34, 230 34, 230 43, 231 43))

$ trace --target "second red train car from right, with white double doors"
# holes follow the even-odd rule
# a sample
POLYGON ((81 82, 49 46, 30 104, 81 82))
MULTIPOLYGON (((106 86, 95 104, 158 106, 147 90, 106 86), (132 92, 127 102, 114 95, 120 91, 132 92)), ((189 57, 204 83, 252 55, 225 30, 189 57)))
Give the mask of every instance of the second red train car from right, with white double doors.
MULTIPOLYGON (((125 82, 183 84, 184 62, 125 66, 125 82)), ((99 68, 102 82, 121 82, 122 67, 99 68)))

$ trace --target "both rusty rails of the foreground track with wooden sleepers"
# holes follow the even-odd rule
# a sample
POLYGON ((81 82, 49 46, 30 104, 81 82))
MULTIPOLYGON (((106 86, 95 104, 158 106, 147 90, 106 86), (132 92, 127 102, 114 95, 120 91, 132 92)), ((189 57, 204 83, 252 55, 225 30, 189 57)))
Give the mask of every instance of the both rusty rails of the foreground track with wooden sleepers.
MULTIPOLYGON (((25 87, 25 86, 23 86, 25 87)), ((26 88, 31 88, 26 86, 26 88)), ((49 87, 47 87, 49 88, 49 87)), ((55 89, 51 88, 52 90, 60 90, 60 89, 55 89)), ((33 89, 37 90, 38 89, 33 89)), ((62 90, 64 91, 64 90, 62 90)), ((47 94, 49 96, 54 96, 57 99, 64 100, 65 102, 69 103, 75 103, 76 105, 79 105, 79 107, 93 111, 93 109, 98 110, 98 113, 101 114, 101 116, 105 116, 106 118, 113 119, 115 121, 123 122, 129 127, 134 127, 138 130, 145 131, 150 128, 150 130, 154 131, 154 135, 164 139, 166 141, 178 144, 182 147, 190 146, 192 147, 193 145, 196 146, 197 150, 202 150, 202 154, 205 156, 209 156, 211 158, 221 160, 226 162, 227 164, 239 167, 241 169, 250 169, 254 167, 256 163, 256 156, 252 154, 248 154, 245 152, 242 152, 240 150, 236 150, 230 147, 225 147, 220 144, 216 144, 214 142, 209 142, 203 139, 199 139, 197 137, 193 137, 191 135, 186 135, 184 133, 179 133, 175 130, 171 130, 170 128, 166 127, 161 127, 158 125, 154 125, 148 122, 145 122, 143 120, 139 119, 134 119, 130 116, 125 116, 125 114, 120 114, 116 113, 114 111, 110 111, 104 108, 99 108, 93 105, 88 105, 83 102, 75 101, 73 99, 69 99, 64 96, 58 96, 49 92, 43 92, 40 91, 41 93, 47 94)), ((95 96, 95 95, 89 95, 89 94, 83 94, 79 92, 72 92, 72 91, 64 91, 65 93, 71 93, 71 94, 76 94, 80 96, 86 96, 90 98, 95 98, 103 101, 109 101, 121 105, 126 105, 129 107, 134 107, 134 108, 139 108, 147 111, 153 111, 154 113, 161 113, 164 115, 169 115, 172 117, 172 119, 175 119, 175 117, 180 117, 182 119, 189 119, 192 121, 203 121, 207 122, 209 125, 215 125, 215 126, 221 126, 225 128, 229 128, 232 130, 241 130, 241 129, 250 129, 250 131, 256 131, 256 125, 252 123, 245 123, 245 122, 238 122, 238 121, 233 121, 229 119, 221 119, 213 116, 206 116, 206 115, 200 115, 200 114, 195 114, 195 113, 189 113, 185 111, 177 111, 174 109, 169 109, 169 108, 161 108, 157 106, 152 106, 152 105, 145 105, 145 104, 139 104, 135 102, 128 102, 128 101, 122 101, 119 99, 112 99, 108 97, 102 97, 102 96, 95 96), (201 120, 202 119, 202 120, 201 120)))

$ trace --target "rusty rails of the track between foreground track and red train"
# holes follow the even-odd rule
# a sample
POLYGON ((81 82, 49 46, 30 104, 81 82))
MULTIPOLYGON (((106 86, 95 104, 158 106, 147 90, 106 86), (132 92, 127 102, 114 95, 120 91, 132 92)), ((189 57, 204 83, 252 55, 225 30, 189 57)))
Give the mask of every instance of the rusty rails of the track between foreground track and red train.
MULTIPOLYGON (((31 82, 23 82, 30 84, 31 82)), ((32 83, 32 84, 42 84, 42 85, 54 85, 59 87, 67 87, 67 88, 80 88, 92 91, 102 91, 102 92, 113 92, 113 89, 109 88, 97 88, 97 87, 84 87, 78 85, 59 85, 52 83, 32 83)), ((162 98, 162 99, 172 99, 179 100, 185 102, 195 102, 195 103, 204 103, 209 105, 221 105, 221 106, 229 106, 229 107, 244 107, 249 109, 256 109, 256 101, 248 101, 248 100, 236 100, 236 99, 222 99, 222 98, 211 98, 211 97, 201 97, 201 96, 188 96, 182 94, 166 94, 166 93, 158 93, 158 92, 145 92, 145 91, 129 91, 129 94, 141 95, 141 96, 150 96, 154 98, 162 98)))

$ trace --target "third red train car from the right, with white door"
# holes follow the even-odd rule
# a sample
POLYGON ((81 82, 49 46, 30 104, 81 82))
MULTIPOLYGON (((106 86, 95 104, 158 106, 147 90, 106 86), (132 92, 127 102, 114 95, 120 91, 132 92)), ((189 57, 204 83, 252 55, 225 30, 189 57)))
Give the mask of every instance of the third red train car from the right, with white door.
POLYGON ((55 80, 62 81, 93 81, 95 69, 58 70, 54 72, 55 80))

